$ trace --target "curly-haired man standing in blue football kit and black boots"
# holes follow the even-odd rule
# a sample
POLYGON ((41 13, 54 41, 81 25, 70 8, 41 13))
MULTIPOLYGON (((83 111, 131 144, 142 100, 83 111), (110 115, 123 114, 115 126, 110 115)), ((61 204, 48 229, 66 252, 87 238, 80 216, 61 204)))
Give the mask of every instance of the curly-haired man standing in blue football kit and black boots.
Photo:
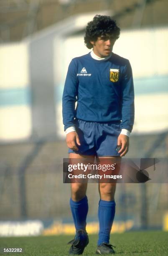
MULTIPOLYGON (((101 163, 120 161, 128 151, 134 122, 134 90, 130 63, 112 53, 120 28, 109 16, 96 15, 84 42, 93 50, 72 59, 63 93, 63 123, 69 158, 101 163), (75 103, 77 101, 77 107, 75 103)), ((109 235, 115 216, 115 183, 99 183, 97 254, 115 253, 109 235)), ((86 232, 87 184, 72 183, 70 207, 76 228, 69 254, 82 254, 86 232)))

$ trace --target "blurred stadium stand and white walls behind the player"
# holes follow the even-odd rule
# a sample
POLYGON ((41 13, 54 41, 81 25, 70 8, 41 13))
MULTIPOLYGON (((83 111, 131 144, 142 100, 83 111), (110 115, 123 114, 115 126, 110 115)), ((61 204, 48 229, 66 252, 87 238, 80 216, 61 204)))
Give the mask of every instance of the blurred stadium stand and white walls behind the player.
MULTIPOLYGON (((130 60, 135 125, 129 158, 168 159, 167 0, 0 0, 0 236, 74 233, 61 97, 69 62, 89 52, 94 15, 121 28, 113 51, 130 60)), ((158 181, 159 182, 159 181, 158 181)), ((88 232, 97 233, 98 184, 88 232)), ((168 184, 118 184, 114 232, 168 230, 168 184)))

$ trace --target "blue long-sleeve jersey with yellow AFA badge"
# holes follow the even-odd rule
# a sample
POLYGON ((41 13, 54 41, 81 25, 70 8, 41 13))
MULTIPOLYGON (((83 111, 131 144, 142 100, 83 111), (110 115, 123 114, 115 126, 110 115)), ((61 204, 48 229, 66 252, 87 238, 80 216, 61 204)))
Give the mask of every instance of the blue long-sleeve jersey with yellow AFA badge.
POLYGON ((121 128, 132 131, 134 87, 130 62, 114 53, 104 61, 93 59, 90 53, 72 59, 62 102, 65 130, 78 118, 92 122, 121 121, 121 128))

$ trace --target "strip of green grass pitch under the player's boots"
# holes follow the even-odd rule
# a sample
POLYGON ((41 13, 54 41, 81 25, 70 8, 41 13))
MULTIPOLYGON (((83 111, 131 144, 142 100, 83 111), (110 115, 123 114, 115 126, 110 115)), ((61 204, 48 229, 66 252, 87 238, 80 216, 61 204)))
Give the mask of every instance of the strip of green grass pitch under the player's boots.
MULTIPOLYGON (((73 236, 38 236, 20 238, 0 238, 0 255, 2 248, 23 248, 23 253, 7 253, 7 255, 24 256, 65 256, 70 245, 66 243, 73 236)), ((116 246, 118 255, 168 255, 168 232, 146 231, 113 234, 111 243, 116 246)), ((89 245, 83 255, 94 255, 97 245, 97 235, 89 236, 89 245)))

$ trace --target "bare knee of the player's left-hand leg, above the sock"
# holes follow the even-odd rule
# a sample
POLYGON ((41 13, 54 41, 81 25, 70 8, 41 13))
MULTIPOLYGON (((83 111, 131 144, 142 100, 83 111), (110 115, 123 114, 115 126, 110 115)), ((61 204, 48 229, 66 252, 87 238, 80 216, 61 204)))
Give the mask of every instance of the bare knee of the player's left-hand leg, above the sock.
POLYGON ((87 184, 72 183, 71 184, 71 198, 73 201, 80 201, 86 195, 87 184))

